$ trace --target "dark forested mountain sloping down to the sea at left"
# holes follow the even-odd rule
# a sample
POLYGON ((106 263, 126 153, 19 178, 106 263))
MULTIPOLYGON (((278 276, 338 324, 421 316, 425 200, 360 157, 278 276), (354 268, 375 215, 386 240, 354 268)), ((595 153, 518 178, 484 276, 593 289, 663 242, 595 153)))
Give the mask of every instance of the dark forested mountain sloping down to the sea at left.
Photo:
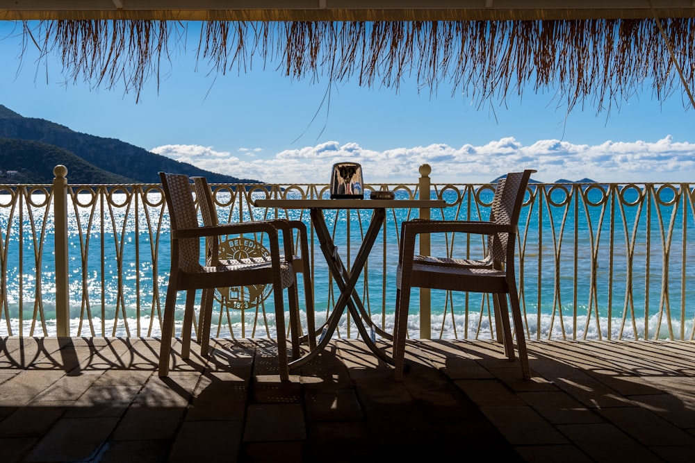
MULTIPOLYGON (((114 138, 75 132, 44 119, 22 117, 2 105, 0 162, 3 172, 13 170, 26 175, 26 178, 44 178, 40 182, 32 180, 27 183, 51 183, 53 168, 57 164, 67 167, 70 183, 159 183, 160 171, 204 176, 209 183, 260 183, 259 180, 199 169, 114 138), (37 143, 24 145, 22 140, 37 143), (13 151, 15 149, 18 151, 13 151), (54 162, 56 159, 64 161, 54 162), (46 171, 50 172, 47 179, 46 171)), ((4 180, 6 178, 1 178, 0 182, 4 180)), ((20 181, 24 183, 27 180, 20 181)))

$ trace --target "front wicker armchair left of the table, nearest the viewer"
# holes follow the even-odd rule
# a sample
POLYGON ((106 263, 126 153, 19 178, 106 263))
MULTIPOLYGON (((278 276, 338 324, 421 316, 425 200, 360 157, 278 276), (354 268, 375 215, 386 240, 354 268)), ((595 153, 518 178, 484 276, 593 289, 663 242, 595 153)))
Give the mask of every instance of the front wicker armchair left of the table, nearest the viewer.
MULTIPOLYGON (((174 332, 174 311, 177 293, 186 291, 186 310, 183 314, 181 332, 183 347, 181 356, 188 357, 190 330, 193 323, 193 301, 197 289, 216 287, 272 284, 275 299, 275 324, 277 326, 277 355, 281 380, 289 379, 287 346, 285 338, 283 290, 293 287, 295 273, 289 260, 280 258, 278 231, 269 222, 250 222, 220 226, 199 226, 188 176, 160 172, 167 207, 171 218, 171 270, 164 308, 161 349, 159 353, 159 376, 167 376, 174 332), (200 239, 242 233, 264 233, 268 235, 270 258, 248 258, 229 260, 216 265, 200 264, 200 239)), ((292 240, 284 239, 286 255, 291 256, 292 240)), ((288 290, 288 293, 291 291, 288 290)), ((213 292, 207 291, 208 300, 213 292)), ((207 304, 208 302, 204 302, 207 304)), ((210 301, 211 303, 211 301, 210 301)), ((290 294, 290 312, 297 312, 297 297, 290 294)), ((206 305, 207 306, 207 305, 206 305)), ((209 318, 204 319, 201 337, 209 337, 209 318)), ((206 355, 207 349, 202 351, 206 355)))

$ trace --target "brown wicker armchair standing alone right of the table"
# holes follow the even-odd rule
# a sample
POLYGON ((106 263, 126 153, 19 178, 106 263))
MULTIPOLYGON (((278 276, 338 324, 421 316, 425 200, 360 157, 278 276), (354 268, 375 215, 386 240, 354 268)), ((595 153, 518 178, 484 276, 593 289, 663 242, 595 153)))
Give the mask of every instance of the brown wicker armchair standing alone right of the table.
POLYGON ((414 220, 403 222, 396 275, 393 332, 395 380, 403 379, 411 287, 493 294, 498 334, 501 325, 507 357, 510 361, 514 361, 514 344, 512 329, 509 325, 509 308, 507 308, 508 295, 514 319, 518 355, 521 359, 521 372, 523 378, 531 378, 514 274, 514 246, 526 186, 533 172, 535 171, 513 172, 500 180, 493 198, 489 221, 414 220), (488 235, 487 253, 482 260, 416 255, 416 237, 422 233, 488 235))

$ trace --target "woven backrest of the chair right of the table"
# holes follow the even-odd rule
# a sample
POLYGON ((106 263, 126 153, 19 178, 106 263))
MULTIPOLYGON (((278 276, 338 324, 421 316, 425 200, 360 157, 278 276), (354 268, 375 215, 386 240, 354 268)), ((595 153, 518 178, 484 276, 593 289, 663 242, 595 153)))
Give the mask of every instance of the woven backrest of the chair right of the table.
MULTIPOLYGON (((490 221, 503 225, 518 224, 528 180, 533 172, 535 171, 510 172, 498 181, 492 200, 490 221)), ((489 237, 488 253, 494 260, 504 263, 507 261, 507 246, 509 233, 496 233, 489 237)))

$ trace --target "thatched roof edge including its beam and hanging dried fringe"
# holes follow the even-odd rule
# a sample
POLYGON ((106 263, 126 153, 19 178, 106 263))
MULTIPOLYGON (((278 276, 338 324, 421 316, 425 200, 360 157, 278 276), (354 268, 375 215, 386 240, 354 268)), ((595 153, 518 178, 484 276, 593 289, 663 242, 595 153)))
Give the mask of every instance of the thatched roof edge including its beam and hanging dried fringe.
POLYGON ((599 111, 651 87, 657 99, 695 106, 692 0, 426 3, 0 0, 0 19, 20 21, 26 46, 56 53, 74 81, 136 94, 183 48, 186 21, 199 21, 199 62, 222 74, 254 63, 395 89, 415 76, 478 103, 533 89, 599 111))

